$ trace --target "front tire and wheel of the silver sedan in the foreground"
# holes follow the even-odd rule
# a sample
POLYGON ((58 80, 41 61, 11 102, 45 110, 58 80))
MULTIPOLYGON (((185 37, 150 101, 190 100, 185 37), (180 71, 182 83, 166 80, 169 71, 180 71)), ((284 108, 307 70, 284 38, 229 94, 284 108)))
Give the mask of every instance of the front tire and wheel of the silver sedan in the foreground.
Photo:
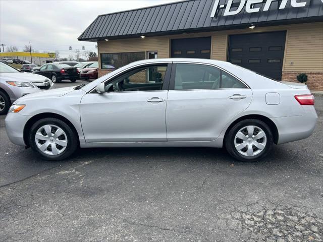
POLYGON ((30 129, 28 141, 37 155, 51 161, 66 159, 79 147, 77 135, 71 127, 61 119, 52 117, 35 122, 30 129))

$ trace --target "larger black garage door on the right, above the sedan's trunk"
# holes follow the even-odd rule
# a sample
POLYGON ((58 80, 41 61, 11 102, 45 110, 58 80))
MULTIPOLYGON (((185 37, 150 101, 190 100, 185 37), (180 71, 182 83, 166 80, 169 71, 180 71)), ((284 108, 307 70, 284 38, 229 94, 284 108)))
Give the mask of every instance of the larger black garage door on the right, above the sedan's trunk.
POLYGON ((231 35, 229 62, 281 80, 286 31, 231 35))

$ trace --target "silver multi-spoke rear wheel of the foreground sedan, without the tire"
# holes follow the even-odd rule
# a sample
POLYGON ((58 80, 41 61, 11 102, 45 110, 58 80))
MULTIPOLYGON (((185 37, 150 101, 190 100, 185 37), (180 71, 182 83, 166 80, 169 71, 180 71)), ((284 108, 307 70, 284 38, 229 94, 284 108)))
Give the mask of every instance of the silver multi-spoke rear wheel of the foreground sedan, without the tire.
POLYGON ((266 147, 265 132, 257 126, 246 126, 240 129, 234 138, 236 150, 244 156, 260 154, 266 147))

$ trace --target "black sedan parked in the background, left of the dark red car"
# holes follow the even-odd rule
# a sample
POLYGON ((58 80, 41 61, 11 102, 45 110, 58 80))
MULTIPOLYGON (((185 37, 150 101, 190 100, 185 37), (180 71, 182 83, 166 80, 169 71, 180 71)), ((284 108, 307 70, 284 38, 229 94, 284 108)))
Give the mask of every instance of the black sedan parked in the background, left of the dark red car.
POLYGON ((79 78, 79 71, 77 68, 70 67, 66 64, 45 64, 40 68, 34 69, 32 73, 48 77, 54 83, 61 80, 70 80, 71 82, 75 82, 76 79, 79 78))

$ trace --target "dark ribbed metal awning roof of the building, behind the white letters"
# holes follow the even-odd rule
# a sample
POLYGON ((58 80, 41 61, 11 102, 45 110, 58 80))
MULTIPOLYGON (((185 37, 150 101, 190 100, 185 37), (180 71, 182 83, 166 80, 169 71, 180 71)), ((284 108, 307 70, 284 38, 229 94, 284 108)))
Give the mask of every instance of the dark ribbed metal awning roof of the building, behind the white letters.
MULTIPOLYGON (((165 34, 204 32, 246 26, 268 26, 323 21, 321 0, 302 0, 304 7, 293 7, 293 0, 273 1, 265 10, 266 2, 251 5, 258 12, 248 13, 244 6, 236 15, 225 16, 230 0, 188 0, 149 8, 99 15, 78 37, 78 40, 98 41, 165 34), (279 9, 284 3, 284 9, 279 9), (218 6, 213 11, 214 4, 218 6), (214 17, 211 17, 214 15, 214 17)), ((232 11, 243 1, 233 1, 232 11)), ((247 1, 248 2, 248 1, 247 1)), ((259 1, 261 2, 261 1, 259 1)), ((294 4, 295 5, 295 4, 294 4)), ((267 6, 268 3, 267 3, 267 6)), ((249 10, 250 12, 250 10, 249 10)))

